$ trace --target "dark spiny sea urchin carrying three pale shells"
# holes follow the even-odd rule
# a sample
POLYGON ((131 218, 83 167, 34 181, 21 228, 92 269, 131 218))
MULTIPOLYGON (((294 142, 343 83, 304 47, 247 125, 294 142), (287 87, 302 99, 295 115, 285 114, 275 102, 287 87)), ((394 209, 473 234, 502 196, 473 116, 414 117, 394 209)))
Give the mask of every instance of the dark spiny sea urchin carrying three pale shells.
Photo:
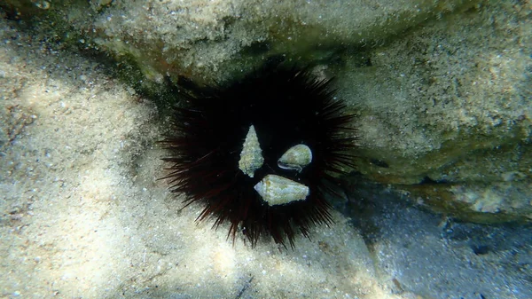
POLYGON ((352 114, 333 97, 330 81, 318 81, 307 70, 267 66, 224 87, 189 86, 184 105, 173 114, 173 136, 163 143, 169 150, 170 190, 185 193, 186 205, 205 206, 199 220, 215 216, 215 227, 231 223, 233 241, 242 232, 254 246, 262 236, 293 247, 299 230, 330 224, 334 173, 353 167, 355 130, 352 114), (254 128, 263 163, 246 175, 239 168, 246 136, 254 128), (278 166, 278 159, 295 145, 306 145, 312 161, 301 171, 278 166), (272 205, 254 186, 268 175, 308 186, 308 196, 272 205), (276 177, 276 176, 273 176, 276 177))

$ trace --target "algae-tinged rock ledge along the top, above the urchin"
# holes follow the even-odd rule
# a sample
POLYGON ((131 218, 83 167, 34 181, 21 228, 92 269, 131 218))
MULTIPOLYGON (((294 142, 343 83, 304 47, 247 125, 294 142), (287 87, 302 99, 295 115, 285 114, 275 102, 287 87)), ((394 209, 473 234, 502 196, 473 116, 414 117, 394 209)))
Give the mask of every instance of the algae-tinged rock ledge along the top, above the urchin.
MULTIPOLYGON (((138 80, 186 75, 212 83, 285 54, 305 63, 416 26, 473 0, 7 1, 13 15, 82 49, 138 67, 138 80), (45 8, 45 9, 44 9, 45 8)), ((4 4, 5 5, 5 4, 4 4)))

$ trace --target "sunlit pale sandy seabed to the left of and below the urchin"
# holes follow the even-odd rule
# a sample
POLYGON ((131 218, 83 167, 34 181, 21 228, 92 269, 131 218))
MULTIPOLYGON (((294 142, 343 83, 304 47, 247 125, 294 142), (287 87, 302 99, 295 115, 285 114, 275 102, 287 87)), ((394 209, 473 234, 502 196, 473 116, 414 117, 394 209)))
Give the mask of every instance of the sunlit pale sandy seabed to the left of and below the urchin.
POLYGON ((0 297, 413 298, 334 212, 294 250, 195 222, 157 180, 156 107, 1 23, 0 297))

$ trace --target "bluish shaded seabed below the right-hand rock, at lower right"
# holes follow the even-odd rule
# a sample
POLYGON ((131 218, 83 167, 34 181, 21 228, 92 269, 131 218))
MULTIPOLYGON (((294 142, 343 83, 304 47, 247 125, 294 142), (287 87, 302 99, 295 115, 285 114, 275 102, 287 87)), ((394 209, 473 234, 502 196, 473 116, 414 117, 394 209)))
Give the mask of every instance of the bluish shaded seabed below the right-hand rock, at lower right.
POLYGON ((427 298, 532 298, 532 226, 472 224, 427 211, 382 185, 348 185, 350 216, 381 279, 427 298), (356 189, 355 189, 356 188, 356 189))

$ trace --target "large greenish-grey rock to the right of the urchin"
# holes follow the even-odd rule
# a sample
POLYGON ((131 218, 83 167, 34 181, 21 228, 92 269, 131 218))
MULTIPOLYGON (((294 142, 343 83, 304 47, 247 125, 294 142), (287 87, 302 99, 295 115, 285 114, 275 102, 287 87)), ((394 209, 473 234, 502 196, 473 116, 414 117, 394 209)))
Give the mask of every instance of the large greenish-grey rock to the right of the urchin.
POLYGON ((468 220, 532 219, 531 20, 487 1, 345 59, 359 170, 468 220))

